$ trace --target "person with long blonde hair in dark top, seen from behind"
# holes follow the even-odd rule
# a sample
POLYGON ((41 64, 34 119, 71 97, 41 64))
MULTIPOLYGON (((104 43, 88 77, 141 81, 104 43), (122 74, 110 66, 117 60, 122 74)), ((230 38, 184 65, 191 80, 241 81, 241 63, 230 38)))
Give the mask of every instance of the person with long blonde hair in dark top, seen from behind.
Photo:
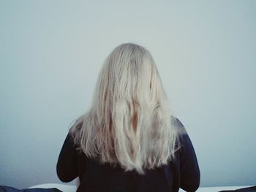
POLYGON ((91 109, 69 129, 59 154, 61 181, 78 191, 196 191, 200 170, 173 116, 154 59, 124 43, 102 66, 91 109))

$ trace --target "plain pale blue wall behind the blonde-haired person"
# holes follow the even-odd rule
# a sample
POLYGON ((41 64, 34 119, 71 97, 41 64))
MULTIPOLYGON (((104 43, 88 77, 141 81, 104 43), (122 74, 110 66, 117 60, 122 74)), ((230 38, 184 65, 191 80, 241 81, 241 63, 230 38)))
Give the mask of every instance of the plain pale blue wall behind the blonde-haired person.
POLYGON ((153 55, 200 186, 256 185, 256 1, 0 1, 0 25, 0 185, 61 183, 69 126, 123 42, 153 55))

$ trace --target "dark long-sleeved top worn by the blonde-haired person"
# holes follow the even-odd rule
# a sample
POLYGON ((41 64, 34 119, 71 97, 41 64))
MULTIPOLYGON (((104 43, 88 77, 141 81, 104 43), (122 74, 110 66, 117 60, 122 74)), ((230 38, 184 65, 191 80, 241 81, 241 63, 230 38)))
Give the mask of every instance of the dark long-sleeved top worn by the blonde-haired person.
POLYGON ((179 188, 196 191, 200 184, 200 170, 195 150, 181 121, 174 118, 174 124, 178 132, 183 133, 177 140, 181 148, 176 151, 175 160, 148 169, 144 175, 135 171, 124 172, 121 166, 114 168, 110 164, 99 164, 96 159, 78 152, 72 137, 67 134, 57 163, 58 177, 65 183, 79 177, 78 191, 85 192, 170 192, 179 188))

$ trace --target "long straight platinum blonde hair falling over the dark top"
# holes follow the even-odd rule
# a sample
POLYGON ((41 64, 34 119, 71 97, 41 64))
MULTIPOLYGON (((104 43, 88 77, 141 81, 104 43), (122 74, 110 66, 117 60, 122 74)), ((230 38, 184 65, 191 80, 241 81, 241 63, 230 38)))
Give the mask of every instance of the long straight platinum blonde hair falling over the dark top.
POLYGON ((70 128, 88 157, 126 171, 167 164, 176 131, 154 59, 145 47, 124 43, 105 59, 91 109, 70 128))

